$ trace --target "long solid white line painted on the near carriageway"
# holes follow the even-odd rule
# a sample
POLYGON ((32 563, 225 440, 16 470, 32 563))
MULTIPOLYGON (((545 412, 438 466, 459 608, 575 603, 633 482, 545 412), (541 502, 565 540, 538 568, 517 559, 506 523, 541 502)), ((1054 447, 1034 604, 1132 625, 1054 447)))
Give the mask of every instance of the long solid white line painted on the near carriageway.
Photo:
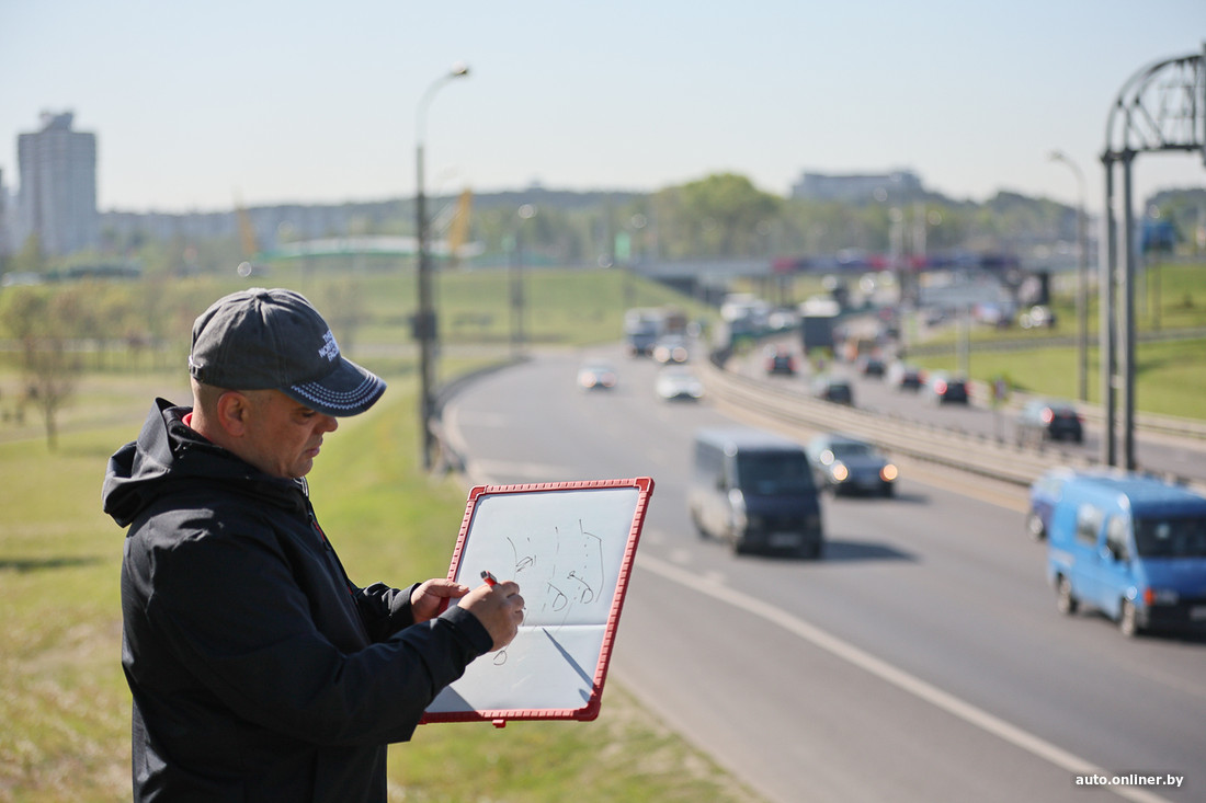
MULTIPOLYGON (((744 594, 714 580, 701 578, 693 572, 680 569, 672 563, 661 561, 649 555, 638 555, 637 568, 648 569, 665 580, 689 587, 692 591, 707 594, 713 599, 727 603, 734 608, 739 608, 749 614, 765 619, 773 625, 778 625, 789 633, 798 635, 806 641, 812 643, 813 645, 842 658, 843 661, 853 663, 880 680, 896 686, 901 691, 908 692, 909 694, 913 694, 914 697, 959 717, 968 725, 991 733, 993 735, 996 735, 997 738, 1003 739, 1015 748, 1020 748, 1026 752, 1042 758, 1043 761, 1053 763, 1056 767, 1061 767, 1073 775, 1111 775, 1110 772, 1094 764, 1093 762, 1069 752, 1067 750, 1064 750, 1062 748, 1052 744, 1050 742, 1047 742, 1029 731, 1024 731, 1023 728, 1019 728, 1018 726, 1012 725, 1001 717, 978 708, 977 705, 960 699, 959 697, 938 688, 933 684, 921 680, 917 675, 912 675, 903 669, 894 667, 886 661, 877 658, 870 652, 854 646, 849 641, 844 641, 832 633, 822 631, 814 625, 809 625, 808 622, 797 619, 796 616, 792 616, 791 614, 788 614, 783 609, 769 603, 755 599, 749 594, 744 594)), ((1167 798, 1153 795, 1138 787, 1108 786, 1106 789, 1122 798, 1135 801, 1136 803, 1169 803, 1167 798)))

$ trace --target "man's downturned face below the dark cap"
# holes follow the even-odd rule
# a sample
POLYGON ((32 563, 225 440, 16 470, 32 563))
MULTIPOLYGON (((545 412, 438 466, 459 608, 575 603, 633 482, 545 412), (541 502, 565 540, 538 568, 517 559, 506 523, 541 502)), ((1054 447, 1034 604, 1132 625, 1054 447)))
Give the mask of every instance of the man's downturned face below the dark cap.
POLYGON ((252 391, 251 420, 240 457, 273 476, 302 477, 314 468, 324 433, 339 421, 298 404, 280 391, 252 391))

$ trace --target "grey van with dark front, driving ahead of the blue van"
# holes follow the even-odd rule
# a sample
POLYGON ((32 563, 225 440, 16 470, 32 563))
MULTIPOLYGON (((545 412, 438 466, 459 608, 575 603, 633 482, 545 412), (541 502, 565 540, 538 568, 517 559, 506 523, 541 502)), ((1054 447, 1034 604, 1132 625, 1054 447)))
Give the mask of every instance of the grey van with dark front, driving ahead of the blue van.
POLYGON ((693 462, 687 505, 701 537, 737 553, 820 557, 820 494, 800 444, 761 429, 701 429, 693 462))

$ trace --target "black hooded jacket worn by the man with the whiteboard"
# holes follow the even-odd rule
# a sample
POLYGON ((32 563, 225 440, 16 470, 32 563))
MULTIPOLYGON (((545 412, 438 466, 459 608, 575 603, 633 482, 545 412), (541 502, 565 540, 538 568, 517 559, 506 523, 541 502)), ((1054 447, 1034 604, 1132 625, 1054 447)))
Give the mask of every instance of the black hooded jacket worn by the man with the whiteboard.
POLYGON ((157 399, 109 461, 129 524, 122 664, 135 801, 386 799, 386 748, 491 646, 468 611, 414 625, 355 586, 304 481, 265 475, 157 399))

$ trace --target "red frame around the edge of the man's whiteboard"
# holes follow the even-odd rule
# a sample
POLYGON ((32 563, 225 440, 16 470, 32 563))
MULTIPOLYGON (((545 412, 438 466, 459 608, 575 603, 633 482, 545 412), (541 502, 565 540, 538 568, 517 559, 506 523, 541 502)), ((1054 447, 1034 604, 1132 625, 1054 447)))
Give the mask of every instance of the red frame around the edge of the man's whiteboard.
MULTIPOLYGON (((469 492, 466 503, 464 518, 461 522, 461 532, 457 535, 456 549, 452 551, 452 561, 449 565, 449 579, 456 580, 461 568, 461 558, 464 556, 466 544, 473 524, 478 504, 486 497, 497 494, 533 493, 546 491, 591 491, 603 488, 636 488, 637 504, 633 511, 632 524, 628 529, 627 543, 620 559, 616 576, 615 593, 611 598, 607 625, 603 633, 602 647, 598 662, 595 667, 593 685, 590 698, 579 708, 515 708, 494 710, 449 710, 426 711, 420 720, 420 725, 429 722, 492 722, 496 727, 503 727, 509 720, 579 720, 590 721, 598 716, 603 698, 603 682, 607 679, 608 667, 611 661, 611 649, 615 645, 615 634, 620 625, 620 614, 624 610, 624 599, 628 590, 628 580, 632 574, 633 561, 637 555, 637 545, 640 541, 640 532, 645 522, 645 512, 649 509, 649 499, 654 491, 652 477, 642 476, 624 480, 582 480, 572 482, 534 482, 525 485, 479 485, 469 492)), ((500 578, 505 579, 505 578, 500 578)), ((520 593, 523 593, 522 588, 520 593)), ((484 660, 485 656, 478 658, 484 660)))

